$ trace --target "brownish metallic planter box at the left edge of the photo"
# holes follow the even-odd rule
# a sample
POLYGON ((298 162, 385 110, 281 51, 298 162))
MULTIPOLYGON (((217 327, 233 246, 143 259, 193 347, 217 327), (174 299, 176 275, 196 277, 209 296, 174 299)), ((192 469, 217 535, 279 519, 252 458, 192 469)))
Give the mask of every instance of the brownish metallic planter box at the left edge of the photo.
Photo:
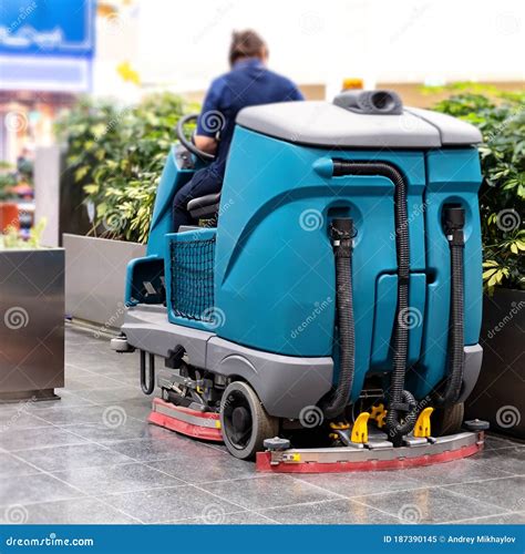
POLYGON ((0 250, 0 400, 64 386, 64 252, 0 250))

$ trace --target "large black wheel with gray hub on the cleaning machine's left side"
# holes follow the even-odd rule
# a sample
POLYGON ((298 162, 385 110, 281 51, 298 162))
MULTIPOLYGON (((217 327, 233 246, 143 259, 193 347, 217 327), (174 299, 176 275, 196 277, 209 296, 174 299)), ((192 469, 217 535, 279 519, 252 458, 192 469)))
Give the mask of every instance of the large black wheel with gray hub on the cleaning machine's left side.
POLYGON ((223 440, 240 460, 250 460, 265 450, 262 441, 276 437, 279 420, 266 413, 254 389, 243 382, 228 384, 220 401, 223 440))

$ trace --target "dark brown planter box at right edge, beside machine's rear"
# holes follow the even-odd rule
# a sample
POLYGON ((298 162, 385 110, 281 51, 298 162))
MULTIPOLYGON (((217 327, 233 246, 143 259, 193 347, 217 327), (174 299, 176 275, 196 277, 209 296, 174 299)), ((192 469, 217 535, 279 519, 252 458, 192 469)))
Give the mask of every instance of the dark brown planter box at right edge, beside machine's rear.
POLYGON ((467 399, 467 418, 491 422, 494 431, 525 439, 525 291, 496 289, 483 299, 483 366, 467 399))

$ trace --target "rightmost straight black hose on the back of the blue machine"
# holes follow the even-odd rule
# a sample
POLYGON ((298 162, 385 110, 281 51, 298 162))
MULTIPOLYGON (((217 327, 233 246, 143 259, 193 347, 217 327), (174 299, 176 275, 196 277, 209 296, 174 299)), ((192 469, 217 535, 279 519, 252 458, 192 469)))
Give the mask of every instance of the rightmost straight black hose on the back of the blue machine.
POLYGON ((464 352, 464 290, 463 250, 465 239, 465 211, 459 206, 443 209, 443 230, 449 240, 451 254, 451 307, 449 324, 449 375, 444 391, 437 394, 439 404, 454 404, 460 397, 465 368, 464 352))

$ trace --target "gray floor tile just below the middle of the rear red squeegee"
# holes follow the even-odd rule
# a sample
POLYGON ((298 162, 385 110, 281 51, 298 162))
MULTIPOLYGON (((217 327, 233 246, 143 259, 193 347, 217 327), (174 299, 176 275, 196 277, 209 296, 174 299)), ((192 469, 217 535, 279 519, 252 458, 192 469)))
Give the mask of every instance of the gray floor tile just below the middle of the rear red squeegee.
POLYGON ((411 479, 406 471, 328 473, 320 475, 297 475, 297 479, 343 496, 363 496, 378 492, 418 489, 421 486, 421 483, 415 479, 411 479))

